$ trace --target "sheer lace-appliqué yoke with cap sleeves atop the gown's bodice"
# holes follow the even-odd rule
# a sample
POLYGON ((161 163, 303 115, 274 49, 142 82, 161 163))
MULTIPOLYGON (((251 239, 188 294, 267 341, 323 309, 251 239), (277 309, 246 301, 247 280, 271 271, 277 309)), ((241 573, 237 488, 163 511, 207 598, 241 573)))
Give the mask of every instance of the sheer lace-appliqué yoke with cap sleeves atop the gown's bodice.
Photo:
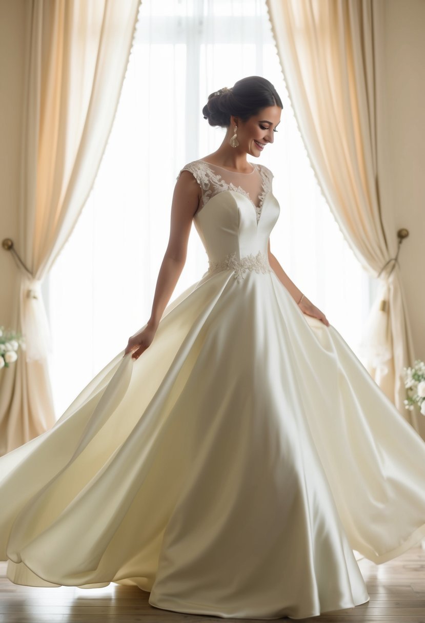
POLYGON ((190 171, 202 191, 197 212, 199 212, 209 199, 216 194, 226 190, 237 191, 251 201, 252 205, 255 207, 258 222, 261 215, 262 204, 264 203, 264 197, 272 189, 273 174, 270 169, 263 164, 249 164, 252 166, 251 173, 228 171, 216 164, 207 163, 202 159, 194 160, 186 164, 181 171, 190 171))

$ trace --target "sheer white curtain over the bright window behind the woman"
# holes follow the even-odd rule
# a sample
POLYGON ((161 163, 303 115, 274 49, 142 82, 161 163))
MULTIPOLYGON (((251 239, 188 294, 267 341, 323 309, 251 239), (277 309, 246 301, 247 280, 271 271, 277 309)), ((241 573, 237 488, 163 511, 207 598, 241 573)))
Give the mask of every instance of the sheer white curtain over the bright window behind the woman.
MULTIPOLYGON (((168 242, 176 175, 216 150, 224 130, 201 113, 209 93, 262 75, 282 122, 260 162, 274 171, 272 251, 356 351, 374 284, 320 192, 290 107, 265 0, 144 0, 107 150, 92 193, 49 275, 57 416, 148 319, 168 242)), ((208 261, 196 231, 173 298, 208 261)))

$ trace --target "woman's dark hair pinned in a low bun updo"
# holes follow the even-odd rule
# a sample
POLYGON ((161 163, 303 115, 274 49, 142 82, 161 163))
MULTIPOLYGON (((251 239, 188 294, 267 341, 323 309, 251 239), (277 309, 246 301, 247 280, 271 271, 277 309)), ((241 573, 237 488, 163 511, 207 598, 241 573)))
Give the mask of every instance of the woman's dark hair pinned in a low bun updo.
POLYGON ((202 113, 209 125, 225 128, 230 125, 231 115, 247 121, 268 106, 283 108, 276 89, 261 76, 248 76, 235 82, 232 88, 224 87, 211 93, 202 113))

